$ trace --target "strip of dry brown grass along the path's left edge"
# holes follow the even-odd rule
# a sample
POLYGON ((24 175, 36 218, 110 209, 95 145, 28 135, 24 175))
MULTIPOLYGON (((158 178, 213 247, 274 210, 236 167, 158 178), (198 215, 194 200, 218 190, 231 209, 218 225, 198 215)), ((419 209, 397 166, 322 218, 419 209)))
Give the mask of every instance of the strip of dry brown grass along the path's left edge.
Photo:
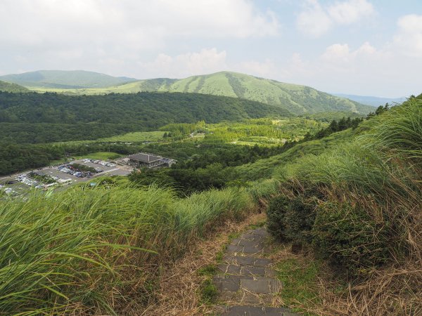
POLYGON ((163 267, 155 303, 142 312, 132 311, 129 315, 206 315, 212 306, 200 303, 200 285, 205 277, 198 270, 216 263, 216 256, 229 242, 229 235, 245 230, 249 225, 264 220, 264 213, 248 216, 243 222, 228 221, 205 240, 197 239, 183 258, 163 267))

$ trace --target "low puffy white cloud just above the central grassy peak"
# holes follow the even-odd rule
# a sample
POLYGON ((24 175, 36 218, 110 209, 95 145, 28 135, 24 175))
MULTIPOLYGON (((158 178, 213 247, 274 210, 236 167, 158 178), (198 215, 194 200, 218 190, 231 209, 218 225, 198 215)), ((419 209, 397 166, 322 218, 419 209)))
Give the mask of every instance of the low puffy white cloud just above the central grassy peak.
POLYGON ((226 51, 217 48, 200 52, 169 56, 160 53, 153 62, 139 62, 139 67, 148 77, 184 78, 195 74, 208 74, 226 70, 226 51))

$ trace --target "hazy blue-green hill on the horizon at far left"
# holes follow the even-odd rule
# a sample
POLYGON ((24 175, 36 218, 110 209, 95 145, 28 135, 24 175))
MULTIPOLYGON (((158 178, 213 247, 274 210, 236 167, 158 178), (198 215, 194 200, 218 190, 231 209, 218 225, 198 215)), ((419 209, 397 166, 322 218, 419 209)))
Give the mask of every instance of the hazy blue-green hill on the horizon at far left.
POLYGON ((113 77, 84 70, 39 70, 23 74, 6 74, 0 80, 27 88, 106 88, 134 81, 127 77, 113 77))

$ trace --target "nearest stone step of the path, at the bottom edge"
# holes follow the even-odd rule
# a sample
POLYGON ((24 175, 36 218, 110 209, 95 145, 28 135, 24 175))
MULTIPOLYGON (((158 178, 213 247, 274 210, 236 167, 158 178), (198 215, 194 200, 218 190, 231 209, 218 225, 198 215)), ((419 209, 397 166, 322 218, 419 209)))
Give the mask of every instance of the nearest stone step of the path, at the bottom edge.
POLYGON ((222 316, 299 316, 288 310, 288 308, 271 308, 266 306, 253 306, 253 305, 241 305, 241 306, 221 306, 219 312, 222 316))

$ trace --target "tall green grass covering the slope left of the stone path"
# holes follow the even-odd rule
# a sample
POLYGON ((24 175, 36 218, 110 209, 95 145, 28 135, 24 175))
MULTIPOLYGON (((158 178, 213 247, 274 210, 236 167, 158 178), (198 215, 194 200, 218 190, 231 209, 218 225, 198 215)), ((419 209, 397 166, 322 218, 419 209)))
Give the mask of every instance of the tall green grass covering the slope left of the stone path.
POLYGON ((178 199, 150 187, 75 187, 0 202, 0 315, 102 312, 153 298, 153 268, 252 208, 229 189, 178 199))

